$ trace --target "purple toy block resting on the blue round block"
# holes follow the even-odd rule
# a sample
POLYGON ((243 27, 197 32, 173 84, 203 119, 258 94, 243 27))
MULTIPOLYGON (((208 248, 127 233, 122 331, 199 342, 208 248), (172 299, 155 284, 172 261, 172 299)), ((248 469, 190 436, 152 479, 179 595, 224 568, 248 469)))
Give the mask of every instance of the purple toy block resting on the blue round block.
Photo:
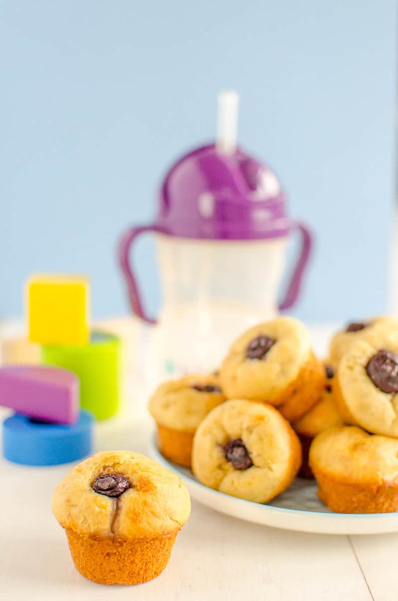
POLYGON ((40 365, 0 368, 0 405, 34 419, 75 424, 80 382, 71 371, 40 365))

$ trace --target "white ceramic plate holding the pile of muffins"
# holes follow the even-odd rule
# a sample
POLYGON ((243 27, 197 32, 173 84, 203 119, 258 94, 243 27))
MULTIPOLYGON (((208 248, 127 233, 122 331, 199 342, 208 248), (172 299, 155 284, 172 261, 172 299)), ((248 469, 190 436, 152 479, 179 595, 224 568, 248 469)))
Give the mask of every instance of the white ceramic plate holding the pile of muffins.
POLYGON ((333 513, 319 500, 316 483, 296 478, 283 495, 262 505, 225 495, 200 484, 189 469, 171 463, 159 453, 156 436, 150 442, 152 458, 176 472, 192 499, 228 516, 265 526, 319 534, 384 534, 398 532, 397 513, 333 513))

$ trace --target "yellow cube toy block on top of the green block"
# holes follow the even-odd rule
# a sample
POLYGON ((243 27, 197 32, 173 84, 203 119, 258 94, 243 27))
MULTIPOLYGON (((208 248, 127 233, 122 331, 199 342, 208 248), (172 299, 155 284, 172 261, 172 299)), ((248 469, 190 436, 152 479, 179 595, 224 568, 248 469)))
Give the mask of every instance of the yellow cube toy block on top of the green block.
POLYGON ((36 344, 88 343, 88 279, 35 275, 27 284, 29 341, 36 344))

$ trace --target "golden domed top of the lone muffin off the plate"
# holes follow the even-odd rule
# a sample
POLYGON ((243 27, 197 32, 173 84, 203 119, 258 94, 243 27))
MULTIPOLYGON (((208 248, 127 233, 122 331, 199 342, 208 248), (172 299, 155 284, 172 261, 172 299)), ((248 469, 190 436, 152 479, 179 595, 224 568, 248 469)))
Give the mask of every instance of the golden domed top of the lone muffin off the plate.
POLYGON ((78 534, 132 539, 182 528, 191 501, 181 478, 152 459, 132 451, 103 451, 64 477, 55 489, 52 510, 63 528, 78 534), (117 499, 91 488, 97 476, 111 473, 131 484, 117 499))

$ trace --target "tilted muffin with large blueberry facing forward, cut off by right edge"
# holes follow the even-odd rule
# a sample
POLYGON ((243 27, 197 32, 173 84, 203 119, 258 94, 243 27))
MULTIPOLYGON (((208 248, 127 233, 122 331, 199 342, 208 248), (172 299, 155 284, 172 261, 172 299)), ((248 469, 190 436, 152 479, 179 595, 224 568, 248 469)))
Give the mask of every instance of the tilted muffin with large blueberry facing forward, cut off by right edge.
POLYGON ((334 386, 346 424, 398 438, 398 338, 380 333, 360 340, 340 361, 334 386))

